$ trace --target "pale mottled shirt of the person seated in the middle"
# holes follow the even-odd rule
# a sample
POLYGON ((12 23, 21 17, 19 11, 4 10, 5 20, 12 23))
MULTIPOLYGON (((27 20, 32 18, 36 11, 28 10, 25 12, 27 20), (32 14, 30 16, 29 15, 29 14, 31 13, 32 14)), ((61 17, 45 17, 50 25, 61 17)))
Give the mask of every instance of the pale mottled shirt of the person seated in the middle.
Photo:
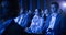
POLYGON ((34 15, 34 18, 32 19, 31 26, 30 26, 32 33, 41 33, 43 23, 44 23, 44 20, 42 18, 34 15))

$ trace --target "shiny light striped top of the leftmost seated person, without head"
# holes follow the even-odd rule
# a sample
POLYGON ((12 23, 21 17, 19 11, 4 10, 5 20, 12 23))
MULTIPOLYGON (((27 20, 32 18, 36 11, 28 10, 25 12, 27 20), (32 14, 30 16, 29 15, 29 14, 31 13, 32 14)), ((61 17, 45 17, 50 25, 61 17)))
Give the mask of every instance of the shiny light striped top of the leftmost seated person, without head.
POLYGON ((21 14, 14 21, 22 27, 26 27, 28 22, 29 22, 29 15, 28 14, 21 14))

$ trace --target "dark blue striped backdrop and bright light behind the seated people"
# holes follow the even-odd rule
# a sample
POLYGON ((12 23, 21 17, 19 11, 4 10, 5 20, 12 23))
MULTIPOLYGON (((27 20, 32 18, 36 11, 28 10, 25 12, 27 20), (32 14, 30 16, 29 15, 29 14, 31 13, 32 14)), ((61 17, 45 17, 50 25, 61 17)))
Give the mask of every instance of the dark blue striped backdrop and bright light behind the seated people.
POLYGON ((59 3, 59 7, 64 12, 66 11, 66 0, 20 0, 20 5, 25 10, 45 10, 46 8, 50 8, 50 3, 54 1, 59 3))

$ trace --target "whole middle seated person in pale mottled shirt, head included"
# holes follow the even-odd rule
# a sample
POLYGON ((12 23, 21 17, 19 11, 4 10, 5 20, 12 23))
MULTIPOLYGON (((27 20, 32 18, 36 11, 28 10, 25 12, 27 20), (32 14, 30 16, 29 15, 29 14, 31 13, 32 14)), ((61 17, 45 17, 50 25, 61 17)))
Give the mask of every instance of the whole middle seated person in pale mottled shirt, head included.
POLYGON ((44 26, 44 19, 41 16, 41 10, 35 10, 35 15, 32 19, 30 27, 25 28, 25 32, 33 34, 42 34, 44 26))

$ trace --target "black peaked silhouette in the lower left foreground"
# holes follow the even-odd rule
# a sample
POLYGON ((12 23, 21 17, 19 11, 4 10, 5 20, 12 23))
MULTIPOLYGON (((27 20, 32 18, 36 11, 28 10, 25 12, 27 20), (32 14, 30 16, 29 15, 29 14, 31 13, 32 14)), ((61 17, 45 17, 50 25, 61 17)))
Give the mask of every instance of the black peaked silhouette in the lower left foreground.
POLYGON ((24 28, 22 28, 18 23, 13 20, 12 22, 6 27, 2 35, 24 35, 24 28))

